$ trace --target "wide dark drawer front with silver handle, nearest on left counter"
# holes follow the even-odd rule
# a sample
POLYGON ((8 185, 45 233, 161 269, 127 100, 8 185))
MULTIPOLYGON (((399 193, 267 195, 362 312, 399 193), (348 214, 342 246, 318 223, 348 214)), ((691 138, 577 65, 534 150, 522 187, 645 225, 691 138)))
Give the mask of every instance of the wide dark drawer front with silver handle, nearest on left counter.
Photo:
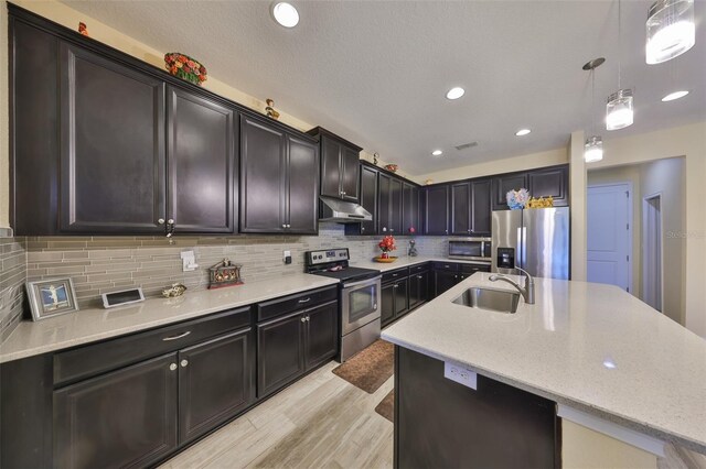
POLYGON ((238 308, 54 355, 54 384, 85 379, 250 325, 238 308))

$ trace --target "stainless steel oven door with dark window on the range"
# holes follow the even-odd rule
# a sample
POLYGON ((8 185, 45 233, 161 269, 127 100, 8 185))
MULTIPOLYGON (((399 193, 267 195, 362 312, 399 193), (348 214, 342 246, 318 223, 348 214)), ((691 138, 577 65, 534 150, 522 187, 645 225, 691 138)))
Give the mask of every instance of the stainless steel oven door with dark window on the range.
POLYGON ((347 283, 341 291, 341 329, 345 336, 379 318, 379 280, 347 283))

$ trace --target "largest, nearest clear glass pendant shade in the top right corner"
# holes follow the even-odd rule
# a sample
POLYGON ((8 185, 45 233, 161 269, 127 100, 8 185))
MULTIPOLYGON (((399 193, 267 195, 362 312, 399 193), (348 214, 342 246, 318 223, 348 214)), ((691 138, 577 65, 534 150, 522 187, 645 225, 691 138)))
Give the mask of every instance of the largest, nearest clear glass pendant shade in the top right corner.
POLYGON ((657 0, 646 22, 645 61, 661 64, 684 54, 696 43, 694 0, 657 0))

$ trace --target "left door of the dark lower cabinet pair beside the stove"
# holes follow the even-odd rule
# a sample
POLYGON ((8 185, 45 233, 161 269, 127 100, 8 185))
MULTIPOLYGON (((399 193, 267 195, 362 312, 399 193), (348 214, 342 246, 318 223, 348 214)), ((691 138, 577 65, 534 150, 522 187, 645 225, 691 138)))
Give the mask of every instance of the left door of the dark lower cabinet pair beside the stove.
POLYGON ((304 316, 295 313, 257 326, 257 396, 304 372, 304 316))

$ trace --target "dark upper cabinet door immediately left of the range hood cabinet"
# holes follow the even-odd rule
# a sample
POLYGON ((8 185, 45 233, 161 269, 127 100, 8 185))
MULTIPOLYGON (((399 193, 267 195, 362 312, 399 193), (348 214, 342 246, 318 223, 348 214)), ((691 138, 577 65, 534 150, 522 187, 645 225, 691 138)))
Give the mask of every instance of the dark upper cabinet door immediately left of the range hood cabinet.
POLYGON ((318 145, 287 137, 287 232, 315 234, 319 227, 318 145))

